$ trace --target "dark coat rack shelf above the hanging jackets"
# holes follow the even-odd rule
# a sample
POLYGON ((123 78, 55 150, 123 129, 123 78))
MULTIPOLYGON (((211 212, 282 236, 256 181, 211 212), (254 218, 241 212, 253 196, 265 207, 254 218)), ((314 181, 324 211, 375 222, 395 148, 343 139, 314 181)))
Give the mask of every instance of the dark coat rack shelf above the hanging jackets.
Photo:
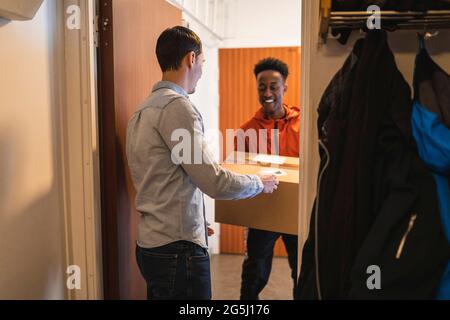
MULTIPOLYGON (((366 11, 332 11, 331 0, 321 0, 320 37, 324 43, 330 30, 367 29, 367 21, 373 13, 366 11)), ((427 12, 380 11, 381 28, 394 30, 438 30, 450 29, 450 10, 427 12)))

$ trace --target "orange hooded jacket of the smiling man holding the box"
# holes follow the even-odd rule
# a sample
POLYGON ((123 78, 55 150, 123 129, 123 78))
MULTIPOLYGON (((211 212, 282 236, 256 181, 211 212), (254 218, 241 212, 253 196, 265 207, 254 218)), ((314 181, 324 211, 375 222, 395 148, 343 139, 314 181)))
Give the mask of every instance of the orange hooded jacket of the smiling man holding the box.
MULTIPOLYGON (((264 115, 262 109, 259 109, 255 116, 244 123, 241 129, 245 131, 255 129, 259 132, 260 129, 267 130, 267 150, 259 150, 259 133, 257 152, 263 154, 270 154, 272 150, 272 140, 274 136, 274 129, 278 128, 279 132, 279 152, 281 156, 299 157, 300 147, 300 109, 284 105, 286 116, 282 119, 268 119, 264 115)), ((235 139, 235 149, 237 149, 237 139, 240 139, 241 133, 238 133, 235 139)), ((242 138, 241 138, 242 139, 242 138)), ((245 151, 250 152, 249 139, 245 138, 245 151)))

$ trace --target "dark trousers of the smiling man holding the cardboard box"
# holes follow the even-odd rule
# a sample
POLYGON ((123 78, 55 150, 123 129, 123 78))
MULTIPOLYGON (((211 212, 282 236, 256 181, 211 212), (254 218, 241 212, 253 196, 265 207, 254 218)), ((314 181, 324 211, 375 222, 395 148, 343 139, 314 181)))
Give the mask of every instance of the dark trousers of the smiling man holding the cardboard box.
POLYGON ((258 300, 259 294, 269 281, 272 271, 273 249, 278 238, 283 239, 288 253, 293 297, 297 289, 297 247, 298 238, 292 235, 249 229, 247 236, 247 257, 242 266, 241 300, 258 300))

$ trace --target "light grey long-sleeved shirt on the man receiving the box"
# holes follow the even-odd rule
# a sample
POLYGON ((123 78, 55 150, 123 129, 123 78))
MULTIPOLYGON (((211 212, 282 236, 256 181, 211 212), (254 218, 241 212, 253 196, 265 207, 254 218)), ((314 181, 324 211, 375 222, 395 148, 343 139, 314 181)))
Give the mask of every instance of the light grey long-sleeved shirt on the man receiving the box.
POLYGON ((215 162, 204 142, 201 114, 186 92, 171 82, 156 84, 131 118, 127 157, 141 214, 138 245, 142 248, 179 240, 206 248, 203 193, 213 199, 238 200, 264 189, 259 177, 234 174, 215 162), (180 151, 180 142, 186 142, 180 134, 189 135, 188 152, 180 151))

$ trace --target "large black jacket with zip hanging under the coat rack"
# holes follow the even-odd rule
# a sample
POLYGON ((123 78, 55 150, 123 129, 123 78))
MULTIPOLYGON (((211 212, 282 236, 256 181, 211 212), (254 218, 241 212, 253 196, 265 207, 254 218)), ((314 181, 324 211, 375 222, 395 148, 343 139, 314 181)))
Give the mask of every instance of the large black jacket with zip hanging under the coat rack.
MULTIPOLYGON (((420 225, 426 220, 433 227, 425 233, 435 232, 437 237, 427 245, 445 240, 433 177, 419 159, 411 135, 411 90, 386 38, 384 31, 372 31, 356 43, 319 106, 318 196, 303 248, 300 299, 318 298, 317 280, 324 299, 372 297, 374 292, 366 292, 367 268, 378 264, 384 279, 390 279, 390 263, 398 260, 399 243, 414 210, 420 212, 420 225), (384 264, 385 260, 389 263, 384 264)), ((443 251, 436 264, 419 266, 416 274, 435 280, 449 257, 443 251)), ((424 252, 420 258, 431 259, 433 252, 424 252)), ((437 282, 427 282, 432 288, 419 289, 417 295, 431 296, 437 282)), ((382 290, 385 296, 381 297, 395 290, 382 290)), ((394 295, 401 298, 398 290, 394 295)))

